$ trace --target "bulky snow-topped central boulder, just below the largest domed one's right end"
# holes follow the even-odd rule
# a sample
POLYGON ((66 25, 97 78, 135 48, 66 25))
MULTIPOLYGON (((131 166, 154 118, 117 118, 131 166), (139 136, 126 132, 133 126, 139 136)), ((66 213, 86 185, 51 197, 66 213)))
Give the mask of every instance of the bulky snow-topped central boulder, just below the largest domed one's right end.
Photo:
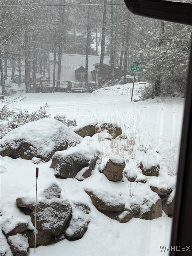
POLYGON ((54 154, 51 168, 55 169, 55 176, 61 178, 75 178, 83 180, 91 175, 95 168, 99 151, 91 146, 76 146, 54 154), (79 173, 80 172, 80 173, 79 173))

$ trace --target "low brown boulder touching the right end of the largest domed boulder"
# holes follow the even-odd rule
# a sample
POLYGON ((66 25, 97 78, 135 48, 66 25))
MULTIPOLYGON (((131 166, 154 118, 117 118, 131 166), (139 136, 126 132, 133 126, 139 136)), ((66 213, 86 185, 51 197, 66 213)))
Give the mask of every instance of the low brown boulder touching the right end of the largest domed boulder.
POLYGON ((95 126, 98 124, 97 121, 92 121, 89 123, 84 123, 72 128, 72 130, 80 135, 81 137, 90 136, 92 137, 95 134, 95 126))

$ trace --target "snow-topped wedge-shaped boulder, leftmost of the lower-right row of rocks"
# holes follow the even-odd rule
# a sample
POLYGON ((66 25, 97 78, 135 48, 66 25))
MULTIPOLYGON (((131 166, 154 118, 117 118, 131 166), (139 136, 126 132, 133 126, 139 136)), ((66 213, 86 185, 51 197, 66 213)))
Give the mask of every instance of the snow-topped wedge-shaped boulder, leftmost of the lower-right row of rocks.
POLYGON ((90 196, 93 205, 99 211, 121 212, 124 210, 125 203, 121 196, 115 192, 104 190, 90 190, 85 192, 90 196))

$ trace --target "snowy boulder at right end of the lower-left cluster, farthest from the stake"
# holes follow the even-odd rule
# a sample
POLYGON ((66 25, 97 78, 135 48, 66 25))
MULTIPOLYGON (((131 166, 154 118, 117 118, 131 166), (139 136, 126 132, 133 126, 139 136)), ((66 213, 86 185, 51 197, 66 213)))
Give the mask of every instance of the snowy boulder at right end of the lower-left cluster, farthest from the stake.
POLYGON ((84 203, 77 202, 72 204, 72 217, 64 235, 68 240, 77 240, 87 231, 90 208, 84 203))

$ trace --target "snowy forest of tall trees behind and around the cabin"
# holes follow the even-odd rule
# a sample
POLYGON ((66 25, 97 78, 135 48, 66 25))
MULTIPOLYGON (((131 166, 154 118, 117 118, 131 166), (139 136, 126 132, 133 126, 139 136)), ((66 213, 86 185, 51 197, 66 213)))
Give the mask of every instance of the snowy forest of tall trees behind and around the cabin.
MULTIPOLYGON (((39 73, 49 79, 49 52, 58 54, 61 75, 62 53, 110 56, 110 64, 126 71, 133 61, 140 66, 139 81, 151 84, 151 94, 185 91, 192 27, 134 16, 123 1, 1 1, 1 86, 5 92, 7 62, 12 77, 25 63, 25 91, 35 88, 39 73), (99 50, 100 49, 100 50, 99 50)), ((55 73, 53 73, 53 80, 55 73)), ((85 80, 87 75, 85 74, 85 80)), ((55 86, 55 81, 53 81, 55 86)))

